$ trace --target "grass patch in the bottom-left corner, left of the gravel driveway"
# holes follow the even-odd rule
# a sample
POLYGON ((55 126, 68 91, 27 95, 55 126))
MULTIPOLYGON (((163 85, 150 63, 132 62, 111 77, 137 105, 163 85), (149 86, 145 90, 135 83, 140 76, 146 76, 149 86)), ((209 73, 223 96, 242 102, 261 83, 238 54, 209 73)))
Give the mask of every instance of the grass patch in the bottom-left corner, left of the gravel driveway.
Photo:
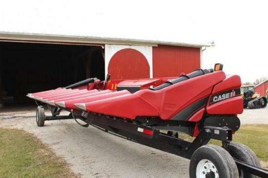
POLYGON ((67 166, 35 136, 0 128, 1 178, 77 178, 67 166))

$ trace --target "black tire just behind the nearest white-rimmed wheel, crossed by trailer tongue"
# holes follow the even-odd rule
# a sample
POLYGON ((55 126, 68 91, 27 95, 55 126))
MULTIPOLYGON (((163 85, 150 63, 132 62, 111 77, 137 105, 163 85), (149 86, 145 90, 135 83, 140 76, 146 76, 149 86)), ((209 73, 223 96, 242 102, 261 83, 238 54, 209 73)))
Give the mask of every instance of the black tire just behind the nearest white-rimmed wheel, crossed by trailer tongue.
MULTIPOLYGON (((255 153, 246 145, 238 142, 230 142, 228 151, 230 155, 243 162, 249 163, 251 165, 261 167, 261 163, 255 153)), ((240 178, 258 178, 255 175, 251 175, 249 173, 243 173, 240 169, 238 169, 240 178)))

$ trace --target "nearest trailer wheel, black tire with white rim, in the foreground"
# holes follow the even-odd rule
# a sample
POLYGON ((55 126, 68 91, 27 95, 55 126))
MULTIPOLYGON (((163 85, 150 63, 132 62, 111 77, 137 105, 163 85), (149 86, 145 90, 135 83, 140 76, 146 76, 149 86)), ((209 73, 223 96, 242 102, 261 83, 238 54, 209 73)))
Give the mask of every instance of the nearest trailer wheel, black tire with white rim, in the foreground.
POLYGON ((237 166, 231 155, 218 145, 199 147, 191 156, 190 178, 238 178, 237 166))

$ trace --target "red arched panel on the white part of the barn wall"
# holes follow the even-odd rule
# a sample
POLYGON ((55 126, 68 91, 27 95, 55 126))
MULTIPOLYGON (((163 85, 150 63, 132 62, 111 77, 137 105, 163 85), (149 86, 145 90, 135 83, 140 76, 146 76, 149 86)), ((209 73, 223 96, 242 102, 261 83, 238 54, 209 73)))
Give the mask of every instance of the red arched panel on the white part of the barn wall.
POLYGON ((111 58, 108 73, 111 74, 111 79, 150 78, 150 67, 142 53, 134 49, 123 49, 111 58))

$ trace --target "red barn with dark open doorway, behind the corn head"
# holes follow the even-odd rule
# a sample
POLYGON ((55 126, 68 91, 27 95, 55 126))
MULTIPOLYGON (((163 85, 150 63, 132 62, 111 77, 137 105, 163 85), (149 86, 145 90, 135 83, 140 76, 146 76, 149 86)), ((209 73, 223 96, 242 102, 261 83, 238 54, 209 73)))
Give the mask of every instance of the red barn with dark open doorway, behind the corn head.
POLYGON ((104 80, 108 73, 111 79, 179 76, 201 68, 202 48, 209 46, 0 32, 0 103, 29 101, 27 93, 104 80))

